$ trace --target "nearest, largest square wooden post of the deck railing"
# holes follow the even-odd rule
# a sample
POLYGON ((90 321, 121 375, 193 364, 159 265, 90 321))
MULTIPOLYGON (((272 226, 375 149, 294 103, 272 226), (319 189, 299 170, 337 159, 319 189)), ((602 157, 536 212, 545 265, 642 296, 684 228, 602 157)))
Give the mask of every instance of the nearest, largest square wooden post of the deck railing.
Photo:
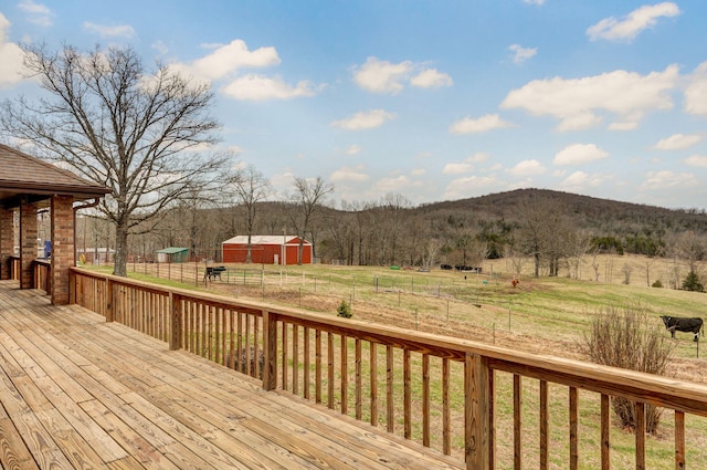
POLYGON ((490 370, 488 359, 466 353, 464 367, 465 419, 464 457, 467 470, 487 470, 490 467, 490 370))

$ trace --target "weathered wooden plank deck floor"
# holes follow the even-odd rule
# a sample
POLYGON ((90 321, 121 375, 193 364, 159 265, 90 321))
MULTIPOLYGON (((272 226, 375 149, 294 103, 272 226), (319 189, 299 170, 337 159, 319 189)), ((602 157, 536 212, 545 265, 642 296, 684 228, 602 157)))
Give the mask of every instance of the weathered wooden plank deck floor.
POLYGON ((4 469, 437 469, 462 462, 0 281, 4 469))

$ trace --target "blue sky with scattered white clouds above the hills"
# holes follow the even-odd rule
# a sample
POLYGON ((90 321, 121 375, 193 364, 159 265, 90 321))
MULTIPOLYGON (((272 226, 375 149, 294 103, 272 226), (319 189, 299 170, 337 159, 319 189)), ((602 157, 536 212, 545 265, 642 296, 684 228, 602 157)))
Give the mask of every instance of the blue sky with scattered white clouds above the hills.
POLYGON ((701 209, 706 24, 704 0, 3 0, 0 98, 36 91, 22 41, 130 44, 209 81, 220 147, 282 192, 701 209))

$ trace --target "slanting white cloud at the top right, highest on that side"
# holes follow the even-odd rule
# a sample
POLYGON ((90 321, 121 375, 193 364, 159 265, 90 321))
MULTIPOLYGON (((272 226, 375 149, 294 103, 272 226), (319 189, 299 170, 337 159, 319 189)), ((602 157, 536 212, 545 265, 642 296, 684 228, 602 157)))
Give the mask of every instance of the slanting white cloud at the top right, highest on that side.
POLYGON ((614 17, 604 18, 597 24, 589 27, 587 34, 592 41, 605 39, 609 41, 633 40, 646 28, 652 28, 663 17, 676 17, 680 9, 673 2, 643 6, 633 10, 621 20, 614 17))

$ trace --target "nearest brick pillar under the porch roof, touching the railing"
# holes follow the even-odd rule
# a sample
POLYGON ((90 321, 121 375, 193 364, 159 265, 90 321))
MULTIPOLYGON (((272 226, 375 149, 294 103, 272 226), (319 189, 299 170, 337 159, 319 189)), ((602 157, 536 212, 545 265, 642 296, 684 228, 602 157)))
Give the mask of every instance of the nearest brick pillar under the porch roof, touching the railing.
POLYGON ((73 197, 52 197, 52 304, 68 303, 68 268, 75 264, 73 197))

